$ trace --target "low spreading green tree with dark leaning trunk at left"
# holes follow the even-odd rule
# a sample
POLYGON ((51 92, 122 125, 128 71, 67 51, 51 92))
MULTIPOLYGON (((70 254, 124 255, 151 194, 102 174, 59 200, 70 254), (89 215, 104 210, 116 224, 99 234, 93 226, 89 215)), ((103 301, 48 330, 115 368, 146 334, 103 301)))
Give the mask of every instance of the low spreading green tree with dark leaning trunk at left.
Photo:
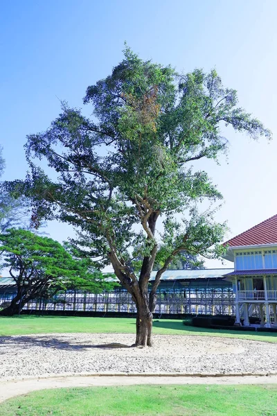
POLYGON ((93 270, 89 259, 77 259, 69 249, 26 229, 0 234, 3 266, 8 267, 17 286, 17 294, 0 315, 18 314, 31 300, 52 297, 57 291, 79 288, 99 293, 113 286, 93 270))

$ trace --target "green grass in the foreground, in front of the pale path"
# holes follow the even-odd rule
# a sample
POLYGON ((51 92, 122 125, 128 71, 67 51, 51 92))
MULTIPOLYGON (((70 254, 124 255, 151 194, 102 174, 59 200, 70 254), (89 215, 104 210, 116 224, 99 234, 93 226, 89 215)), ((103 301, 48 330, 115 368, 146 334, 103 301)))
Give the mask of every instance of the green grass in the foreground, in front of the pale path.
POLYGON ((0 416, 276 416, 276 385, 130 385, 41 390, 0 416))

